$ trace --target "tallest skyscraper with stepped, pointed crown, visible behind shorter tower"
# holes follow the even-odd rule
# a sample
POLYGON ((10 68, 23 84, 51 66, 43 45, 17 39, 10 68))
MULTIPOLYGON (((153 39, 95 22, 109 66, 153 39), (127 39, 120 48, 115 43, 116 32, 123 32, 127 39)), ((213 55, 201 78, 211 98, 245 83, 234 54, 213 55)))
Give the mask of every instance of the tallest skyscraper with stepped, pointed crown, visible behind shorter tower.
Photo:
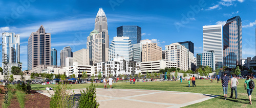
POLYGON ((106 21, 106 15, 105 12, 102 10, 102 8, 99 8, 99 11, 95 18, 95 26, 94 29, 98 31, 99 33, 104 32, 104 44, 105 47, 109 47, 109 31, 108 31, 108 22, 106 21))

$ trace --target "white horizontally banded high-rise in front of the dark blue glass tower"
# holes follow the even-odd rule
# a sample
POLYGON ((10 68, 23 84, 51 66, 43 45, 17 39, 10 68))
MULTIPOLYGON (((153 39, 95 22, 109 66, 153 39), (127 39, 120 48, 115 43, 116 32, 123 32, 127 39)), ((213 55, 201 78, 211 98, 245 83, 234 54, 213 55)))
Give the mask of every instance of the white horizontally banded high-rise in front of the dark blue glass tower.
POLYGON ((126 61, 133 61, 133 44, 129 37, 114 37, 109 47, 109 61, 123 57, 126 61))

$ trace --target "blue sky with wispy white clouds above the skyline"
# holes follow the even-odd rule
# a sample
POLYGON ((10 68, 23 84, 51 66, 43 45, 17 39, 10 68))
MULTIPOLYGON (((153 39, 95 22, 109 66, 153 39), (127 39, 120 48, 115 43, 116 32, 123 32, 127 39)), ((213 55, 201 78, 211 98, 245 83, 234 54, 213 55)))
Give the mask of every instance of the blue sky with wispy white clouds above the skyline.
POLYGON ((63 47, 71 46, 73 52, 86 48, 99 8, 108 18, 110 42, 118 26, 138 25, 142 28, 142 39, 150 39, 163 49, 171 43, 192 41, 195 53, 203 51, 202 26, 225 24, 227 19, 239 15, 243 25, 243 58, 247 58, 255 55, 255 5, 255 0, 0 1, 0 32, 20 34, 20 61, 26 70, 31 32, 42 24, 51 33, 51 48, 58 51, 59 65, 63 47))

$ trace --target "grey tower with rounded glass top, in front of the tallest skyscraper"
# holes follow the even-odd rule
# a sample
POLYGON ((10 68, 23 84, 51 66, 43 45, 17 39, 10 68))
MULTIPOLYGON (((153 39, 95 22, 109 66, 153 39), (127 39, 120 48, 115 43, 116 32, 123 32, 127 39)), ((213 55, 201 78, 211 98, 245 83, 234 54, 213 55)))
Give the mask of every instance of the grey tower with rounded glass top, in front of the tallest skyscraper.
POLYGON ((108 61, 108 48, 105 47, 105 32, 93 30, 87 37, 90 65, 108 61))

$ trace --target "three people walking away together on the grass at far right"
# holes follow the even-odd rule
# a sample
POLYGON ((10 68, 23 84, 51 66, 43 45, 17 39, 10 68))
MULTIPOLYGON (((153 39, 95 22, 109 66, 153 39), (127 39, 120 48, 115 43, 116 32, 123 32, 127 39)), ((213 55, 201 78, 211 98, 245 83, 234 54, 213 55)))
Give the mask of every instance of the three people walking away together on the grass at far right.
MULTIPOLYGON (((237 93, 237 85, 239 84, 237 77, 233 74, 232 78, 230 79, 230 88, 231 88, 231 95, 230 98, 233 97, 233 91, 235 92, 236 99, 238 99, 238 93, 237 93)), ((252 80, 252 77, 250 75, 247 76, 245 82, 244 82, 244 90, 247 91, 248 97, 249 97, 249 104, 251 103, 251 93, 253 91, 253 86, 250 86, 250 81, 252 80)), ((223 88, 223 94, 224 94, 224 100, 227 98, 227 90, 228 90, 228 83, 229 83, 229 77, 226 73, 224 73, 224 76, 221 78, 222 82, 222 88, 223 88)))

